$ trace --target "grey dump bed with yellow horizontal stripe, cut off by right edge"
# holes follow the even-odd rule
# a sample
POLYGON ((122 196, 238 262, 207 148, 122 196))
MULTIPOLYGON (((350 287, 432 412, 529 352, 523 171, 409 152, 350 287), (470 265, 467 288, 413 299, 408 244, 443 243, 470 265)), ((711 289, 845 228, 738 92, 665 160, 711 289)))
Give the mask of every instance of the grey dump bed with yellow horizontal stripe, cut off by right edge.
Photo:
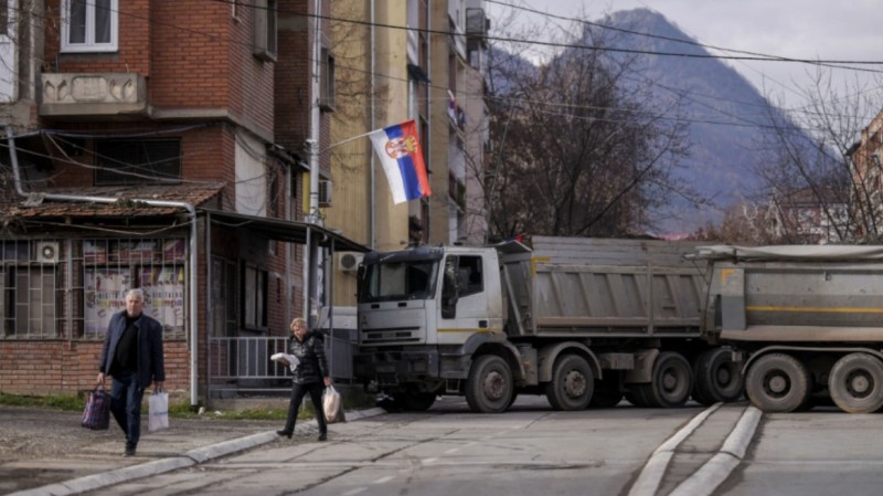
POLYGON ((883 246, 705 246, 721 337, 883 341, 883 246))

